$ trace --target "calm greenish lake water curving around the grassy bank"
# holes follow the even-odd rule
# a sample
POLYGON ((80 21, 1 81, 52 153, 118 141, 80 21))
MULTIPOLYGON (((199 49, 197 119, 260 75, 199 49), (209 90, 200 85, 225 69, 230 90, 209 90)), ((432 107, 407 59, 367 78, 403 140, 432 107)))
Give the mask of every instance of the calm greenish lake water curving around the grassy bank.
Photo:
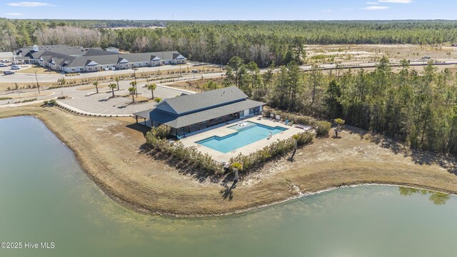
POLYGON ((456 256, 457 198, 339 188, 243 215, 169 218, 106 196, 41 121, 0 119, 0 256, 456 256))

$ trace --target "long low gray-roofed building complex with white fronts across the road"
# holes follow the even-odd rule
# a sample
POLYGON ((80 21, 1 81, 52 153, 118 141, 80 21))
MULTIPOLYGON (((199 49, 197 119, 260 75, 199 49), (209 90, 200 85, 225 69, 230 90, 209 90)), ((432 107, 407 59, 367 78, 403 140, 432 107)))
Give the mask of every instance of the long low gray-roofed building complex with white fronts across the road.
POLYGON ((103 50, 65 45, 25 46, 14 51, 14 55, 20 63, 39 64, 65 73, 185 64, 187 60, 178 51, 123 54, 114 47, 103 50))

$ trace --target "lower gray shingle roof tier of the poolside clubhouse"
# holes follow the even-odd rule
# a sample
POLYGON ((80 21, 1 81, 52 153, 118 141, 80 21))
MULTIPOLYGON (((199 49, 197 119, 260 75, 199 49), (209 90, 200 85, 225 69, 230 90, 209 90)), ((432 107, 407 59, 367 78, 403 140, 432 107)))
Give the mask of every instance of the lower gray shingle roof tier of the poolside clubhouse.
MULTIPOLYGON (((184 97, 184 96, 182 96, 184 97)), ((181 98, 181 97, 179 97, 181 98)), ((238 101, 233 104, 226 104, 224 106, 219 106, 212 109, 206 109, 204 111, 198 111, 191 114, 186 114, 182 116, 178 116, 176 114, 170 114, 160 109, 151 109, 149 119, 153 121, 157 121, 161 124, 165 124, 167 126, 171 126, 172 128, 179 129, 185 126, 190 126, 192 124, 199 124, 203 121, 209 121, 211 119, 216 119, 222 116, 226 116, 229 114, 235 114, 239 111, 251 109, 257 106, 263 106, 264 104, 259 101, 253 101, 246 99, 244 101, 238 101)), ((144 117, 144 113, 146 111, 142 111, 137 113, 136 115, 144 117)))

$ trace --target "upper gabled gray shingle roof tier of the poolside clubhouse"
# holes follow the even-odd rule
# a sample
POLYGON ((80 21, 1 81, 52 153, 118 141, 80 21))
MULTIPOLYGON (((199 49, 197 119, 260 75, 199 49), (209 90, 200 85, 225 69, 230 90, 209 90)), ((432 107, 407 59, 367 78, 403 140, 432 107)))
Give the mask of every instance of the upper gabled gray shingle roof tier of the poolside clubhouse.
POLYGON ((236 86, 230 86, 222 89, 215 89, 199 94, 190 94, 179 96, 172 99, 165 99, 156 104, 156 109, 162 111, 171 111, 174 114, 186 114, 189 112, 209 109, 214 106, 242 101, 248 96, 236 86))

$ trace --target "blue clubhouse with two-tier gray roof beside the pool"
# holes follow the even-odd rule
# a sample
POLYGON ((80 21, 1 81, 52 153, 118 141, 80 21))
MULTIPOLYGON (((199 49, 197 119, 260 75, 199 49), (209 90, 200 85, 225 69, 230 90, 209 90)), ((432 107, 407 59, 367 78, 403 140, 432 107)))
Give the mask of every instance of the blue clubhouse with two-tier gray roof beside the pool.
MULTIPOLYGON (((151 126, 166 125, 173 136, 184 136, 246 116, 261 114, 262 102, 248 99, 236 86, 165 99, 154 109, 140 111, 136 119, 151 121, 151 126)), ((145 123, 146 124, 146 123, 145 123)))

